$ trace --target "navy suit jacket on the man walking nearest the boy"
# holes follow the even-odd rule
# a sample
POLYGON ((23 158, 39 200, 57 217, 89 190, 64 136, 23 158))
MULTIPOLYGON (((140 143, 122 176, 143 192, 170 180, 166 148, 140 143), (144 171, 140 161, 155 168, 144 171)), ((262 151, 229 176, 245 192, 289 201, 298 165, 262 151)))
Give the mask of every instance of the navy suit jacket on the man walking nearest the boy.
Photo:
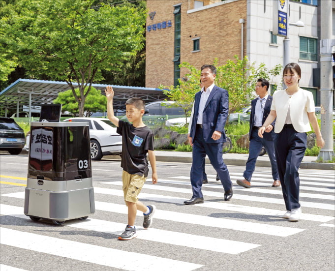
MULTIPOLYGON (((192 142, 194 141, 195 137, 200 97, 201 91, 197 92, 194 97, 194 114, 190 131, 192 142)), ((228 106, 228 91, 214 86, 210 96, 208 97, 202 115, 203 136, 206 143, 217 144, 226 141, 224 125, 226 124, 226 120, 228 118, 228 106), (212 139, 214 131, 220 131, 222 133, 220 139, 212 139)))

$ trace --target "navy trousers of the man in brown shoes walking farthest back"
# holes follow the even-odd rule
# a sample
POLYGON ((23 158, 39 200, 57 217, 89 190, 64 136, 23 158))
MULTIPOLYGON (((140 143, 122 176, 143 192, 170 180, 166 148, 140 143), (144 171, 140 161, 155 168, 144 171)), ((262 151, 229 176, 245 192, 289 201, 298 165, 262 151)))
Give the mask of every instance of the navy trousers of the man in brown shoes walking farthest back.
POLYGON ((243 177, 247 181, 251 181, 252 174, 255 171, 257 157, 263 146, 269 155, 272 178, 274 180, 280 180, 278 175, 277 162, 274 155, 274 141, 266 140, 264 137, 260 138, 258 136, 258 129, 252 128, 249 145, 249 156, 245 164, 245 171, 243 173, 243 177))

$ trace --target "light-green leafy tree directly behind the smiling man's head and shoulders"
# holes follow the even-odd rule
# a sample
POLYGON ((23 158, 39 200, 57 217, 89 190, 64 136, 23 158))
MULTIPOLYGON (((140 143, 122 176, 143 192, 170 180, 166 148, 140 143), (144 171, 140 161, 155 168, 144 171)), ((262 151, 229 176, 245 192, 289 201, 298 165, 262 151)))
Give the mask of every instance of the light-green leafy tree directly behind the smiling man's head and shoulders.
MULTIPOLYGON (((274 76, 279 75, 281 70, 280 64, 272 69, 268 69, 264 63, 256 67, 255 63, 249 63, 247 57, 239 60, 237 56, 235 60, 227 60, 220 66, 217 65, 217 60, 214 60, 213 65, 216 67, 215 85, 228 90, 229 93, 229 114, 249 104, 258 78, 272 82, 274 76)), ((189 73, 183 76, 183 80, 179 80, 179 86, 160 86, 160 88, 170 100, 176 101, 173 106, 182 107, 186 116, 189 116, 194 95, 200 90, 200 70, 187 62, 181 63, 180 67, 187 68, 189 73)))

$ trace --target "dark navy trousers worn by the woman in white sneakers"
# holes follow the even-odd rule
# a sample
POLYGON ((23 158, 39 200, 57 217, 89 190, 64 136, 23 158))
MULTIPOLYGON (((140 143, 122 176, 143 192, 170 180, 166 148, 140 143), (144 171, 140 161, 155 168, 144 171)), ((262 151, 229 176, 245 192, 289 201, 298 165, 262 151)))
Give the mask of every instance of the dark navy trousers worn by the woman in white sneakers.
POLYGON ((287 211, 300 208, 298 170, 305 155, 306 142, 306 133, 297 132, 292 124, 285 124, 274 137, 275 157, 287 211))

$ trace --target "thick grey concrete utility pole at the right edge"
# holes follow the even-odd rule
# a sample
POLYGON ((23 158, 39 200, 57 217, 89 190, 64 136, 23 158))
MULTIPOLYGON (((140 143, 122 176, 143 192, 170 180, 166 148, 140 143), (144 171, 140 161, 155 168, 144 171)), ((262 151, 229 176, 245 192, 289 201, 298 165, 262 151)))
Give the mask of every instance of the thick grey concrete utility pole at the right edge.
POLYGON ((318 160, 332 160, 333 143, 333 67, 332 48, 332 1, 319 1, 321 10, 321 40, 320 40, 320 98, 321 98, 321 133, 325 146, 318 155, 318 160))

